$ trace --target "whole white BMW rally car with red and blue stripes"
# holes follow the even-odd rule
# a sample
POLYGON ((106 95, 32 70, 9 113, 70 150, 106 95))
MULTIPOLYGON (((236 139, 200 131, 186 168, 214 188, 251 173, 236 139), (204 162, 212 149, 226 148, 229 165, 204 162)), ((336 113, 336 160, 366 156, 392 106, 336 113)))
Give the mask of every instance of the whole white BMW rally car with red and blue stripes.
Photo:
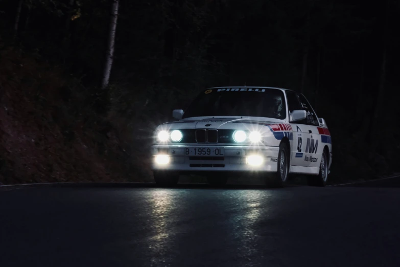
POLYGON ((266 186, 281 187, 289 173, 307 174, 325 186, 332 140, 299 93, 274 87, 213 87, 201 92, 178 121, 157 127, 152 146, 154 179, 173 185, 179 174, 207 176, 222 185, 227 176, 256 173, 266 186))

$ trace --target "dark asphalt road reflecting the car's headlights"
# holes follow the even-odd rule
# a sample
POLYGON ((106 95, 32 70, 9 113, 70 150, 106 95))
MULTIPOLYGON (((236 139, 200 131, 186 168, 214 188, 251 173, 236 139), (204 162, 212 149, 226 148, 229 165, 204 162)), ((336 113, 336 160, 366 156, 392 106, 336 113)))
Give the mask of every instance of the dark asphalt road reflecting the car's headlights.
POLYGON ((398 184, 3 187, 0 266, 397 267, 398 184))

